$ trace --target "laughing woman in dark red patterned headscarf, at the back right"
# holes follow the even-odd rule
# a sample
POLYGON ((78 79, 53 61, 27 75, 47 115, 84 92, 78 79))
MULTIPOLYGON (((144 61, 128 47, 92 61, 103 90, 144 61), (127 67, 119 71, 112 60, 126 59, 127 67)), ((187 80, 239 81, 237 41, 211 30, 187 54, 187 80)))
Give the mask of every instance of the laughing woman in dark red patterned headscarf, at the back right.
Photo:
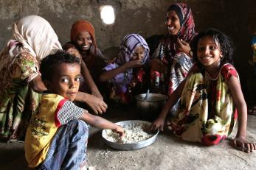
POLYGON ((168 33, 151 56, 150 66, 152 77, 161 75, 159 88, 153 91, 170 95, 193 65, 189 43, 196 32, 190 7, 181 3, 171 4, 165 25, 168 33))

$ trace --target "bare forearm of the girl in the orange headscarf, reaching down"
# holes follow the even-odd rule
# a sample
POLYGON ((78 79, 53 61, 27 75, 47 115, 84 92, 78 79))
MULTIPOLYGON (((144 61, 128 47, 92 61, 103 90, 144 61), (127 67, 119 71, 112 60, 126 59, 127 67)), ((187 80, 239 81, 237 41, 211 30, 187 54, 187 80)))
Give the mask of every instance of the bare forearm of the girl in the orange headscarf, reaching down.
POLYGON ((86 66, 86 63, 84 63, 83 60, 81 60, 81 74, 83 75, 83 79, 85 79, 86 81, 86 85, 88 85, 88 87, 90 88, 91 94, 100 99, 103 99, 103 96, 100 94, 100 91, 95 85, 94 80, 91 78, 91 74, 86 66))

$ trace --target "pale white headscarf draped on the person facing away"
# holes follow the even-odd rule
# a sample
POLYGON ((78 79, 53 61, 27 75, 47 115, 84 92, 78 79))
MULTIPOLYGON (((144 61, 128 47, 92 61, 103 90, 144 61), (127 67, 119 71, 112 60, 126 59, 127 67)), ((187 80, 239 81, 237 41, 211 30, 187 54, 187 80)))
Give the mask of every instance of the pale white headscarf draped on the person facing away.
POLYGON ((0 54, 0 71, 10 65, 24 48, 41 63, 49 54, 61 48, 52 26, 38 15, 29 15, 13 24, 13 35, 0 54))

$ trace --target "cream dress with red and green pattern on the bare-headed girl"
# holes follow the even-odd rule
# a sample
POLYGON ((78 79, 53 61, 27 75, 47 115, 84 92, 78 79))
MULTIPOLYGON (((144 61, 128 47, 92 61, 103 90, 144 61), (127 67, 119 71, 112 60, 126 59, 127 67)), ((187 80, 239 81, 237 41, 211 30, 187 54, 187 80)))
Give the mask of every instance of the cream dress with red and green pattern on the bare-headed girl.
POLYGON ((228 87, 230 77, 239 79, 231 64, 224 65, 216 79, 199 71, 187 77, 178 114, 170 120, 176 135, 186 141, 212 145, 232 132, 237 112, 228 87))

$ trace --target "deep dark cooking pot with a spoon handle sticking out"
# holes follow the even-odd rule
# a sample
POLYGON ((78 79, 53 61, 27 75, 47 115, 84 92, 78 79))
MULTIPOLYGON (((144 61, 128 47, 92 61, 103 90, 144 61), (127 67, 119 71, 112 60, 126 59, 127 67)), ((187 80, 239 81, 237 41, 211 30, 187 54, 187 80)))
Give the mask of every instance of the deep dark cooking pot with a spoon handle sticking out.
POLYGON ((159 93, 142 93, 135 96, 137 110, 142 119, 152 121, 157 118, 168 97, 159 93))

